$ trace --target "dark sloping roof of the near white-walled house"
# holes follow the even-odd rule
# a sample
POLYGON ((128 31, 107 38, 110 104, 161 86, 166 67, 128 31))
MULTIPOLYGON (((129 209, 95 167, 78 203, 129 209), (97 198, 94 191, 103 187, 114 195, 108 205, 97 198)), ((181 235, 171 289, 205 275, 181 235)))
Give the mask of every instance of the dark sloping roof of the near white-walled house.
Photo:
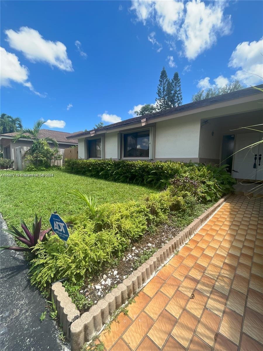
MULTIPOLYGON (((257 85, 256 87, 257 88, 263 88, 263 84, 257 85)), ((193 110, 193 109, 198 108, 198 107, 203 107, 203 106, 208 106, 208 105, 212 105, 212 104, 217 104, 218 102, 233 100, 233 99, 242 98, 242 97, 245 97, 245 96, 259 94, 259 93, 261 93, 259 90, 255 89, 255 88, 252 88, 252 87, 249 87, 249 88, 245 88, 245 89, 234 91, 232 93, 227 93, 227 94, 223 94, 223 95, 217 95, 217 96, 215 96, 213 98, 203 99, 203 100, 196 101, 196 102, 190 102, 189 104, 184 104, 184 105, 181 105, 181 106, 168 108, 167 110, 158 111, 158 112, 154 112, 154 113, 149 113, 149 114, 145 114, 143 116, 137 116, 137 117, 129 118, 129 119, 126 119, 124 121, 120 121, 120 122, 117 122, 117 123, 109 124, 107 126, 96 128, 96 132, 103 131, 103 130, 106 131, 106 130, 110 130, 110 129, 114 129, 114 128, 118 128, 118 127, 122 127, 122 126, 124 127, 124 126, 128 126, 128 125, 133 125, 133 124, 136 124, 136 123, 140 122, 143 118, 146 118, 146 120, 148 121, 148 120, 151 120, 151 119, 154 119, 154 118, 164 117, 164 116, 167 116, 167 115, 170 115, 170 114, 176 114, 176 113, 180 113, 180 112, 183 112, 183 111, 193 110)), ((86 132, 79 131, 79 132, 71 134, 71 136, 79 137, 81 135, 90 134, 91 131, 93 131, 93 129, 89 130, 89 131, 86 131, 86 132)), ((67 137, 67 138, 69 138, 69 137, 67 137)))

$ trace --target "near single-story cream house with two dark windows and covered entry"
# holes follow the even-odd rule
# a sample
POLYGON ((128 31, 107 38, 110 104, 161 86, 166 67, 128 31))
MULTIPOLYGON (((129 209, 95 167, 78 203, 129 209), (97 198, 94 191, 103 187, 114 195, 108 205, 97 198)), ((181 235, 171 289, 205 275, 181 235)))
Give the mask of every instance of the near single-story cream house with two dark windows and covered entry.
POLYGON ((245 88, 70 137, 78 140, 82 159, 222 163, 235 178, 262 180, 262 143, 229 157, 262 139, 261 132, 240 129, 263 130, 262 98, 261 91, 245 88))

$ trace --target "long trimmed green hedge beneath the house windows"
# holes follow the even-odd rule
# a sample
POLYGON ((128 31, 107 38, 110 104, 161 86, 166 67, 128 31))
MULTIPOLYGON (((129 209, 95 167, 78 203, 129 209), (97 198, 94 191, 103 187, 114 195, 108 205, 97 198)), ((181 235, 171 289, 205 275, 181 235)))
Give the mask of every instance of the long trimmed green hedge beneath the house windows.
POLYGON ((65 160, 65 169, 68 172, 89 177, 147 185, 159 189, 168 186, 170 179, 174 176, 189 177, 194 180, 216 179, 221 192, 218 196, 228 193, 232 189, 232 184, 235 183, 230 174, 225 171, 225 166, 218 168, 212 165, 204 166, 202 164, 173 161, 148 162, 67 159, 65 160))

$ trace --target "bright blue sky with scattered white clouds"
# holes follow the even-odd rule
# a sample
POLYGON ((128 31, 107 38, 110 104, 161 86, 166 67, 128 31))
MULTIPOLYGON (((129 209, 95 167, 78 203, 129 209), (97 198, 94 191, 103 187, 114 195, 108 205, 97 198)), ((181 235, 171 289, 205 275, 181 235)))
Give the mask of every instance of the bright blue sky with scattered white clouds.
POLYGON ((262 1, 1 1, 1 113, 66 132, 131 118, 155 103, 163 66, 170 78, 178 71, 183 104, 235 78, 261 84, 262 10, 262 1))

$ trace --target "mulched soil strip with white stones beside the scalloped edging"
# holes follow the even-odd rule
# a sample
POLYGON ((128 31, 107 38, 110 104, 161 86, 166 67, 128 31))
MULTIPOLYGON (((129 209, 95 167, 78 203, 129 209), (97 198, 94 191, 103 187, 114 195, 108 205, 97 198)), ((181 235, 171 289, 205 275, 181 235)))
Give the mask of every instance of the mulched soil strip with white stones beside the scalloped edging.
POLYGON ((80 314, 87 312, 101 298, 110 292, 118 284, 149 259, 154 252, 168 243, 179 232, 180 228, 163 224, 155 233, 146 233, 141 240, 127 251, 119 263, 108 267, 99 276, 94 277, 80 290, 87 299, 89 307, 80 310, 80 314))

